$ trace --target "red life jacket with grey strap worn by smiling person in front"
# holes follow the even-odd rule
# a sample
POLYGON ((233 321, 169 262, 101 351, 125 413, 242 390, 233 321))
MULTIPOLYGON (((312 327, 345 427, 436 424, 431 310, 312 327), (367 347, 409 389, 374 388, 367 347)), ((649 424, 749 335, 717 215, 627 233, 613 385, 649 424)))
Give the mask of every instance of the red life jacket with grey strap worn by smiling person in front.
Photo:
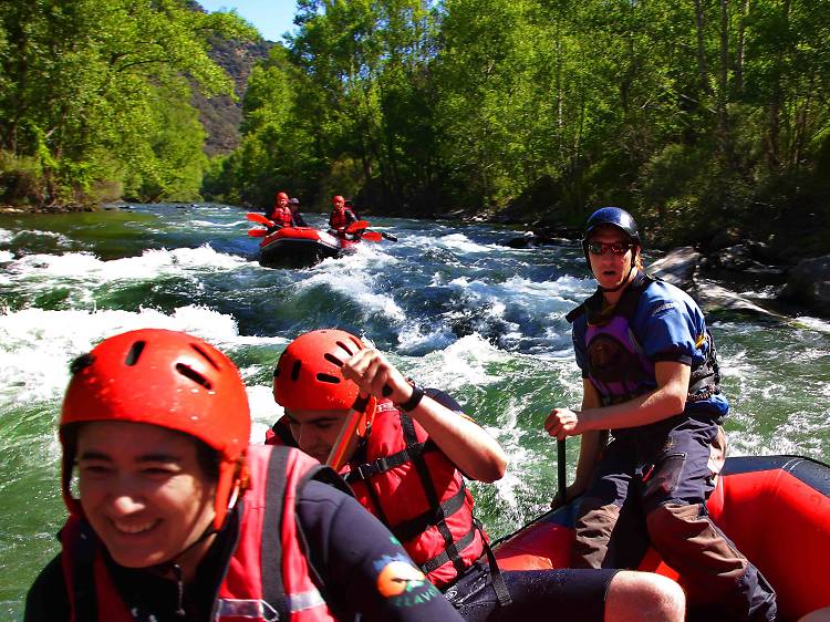
MULTIPOLYGON (((266 622, 288 620, 290 612, 293 622, 335 621, 311 579, 294 514, 298 489, 320 465, 298 449, 251 445, 248 468, 251 487, 241 499, 239 537, 210 619, 266 622), (263 529, 279 523, 280 517, 279 532, 263 529)), ((135 622, 89 523, 71 516, 61 530, 61 541, 72 622, 89 620, 90 611, 96 611, 95 619, 101 622, 135 622)))

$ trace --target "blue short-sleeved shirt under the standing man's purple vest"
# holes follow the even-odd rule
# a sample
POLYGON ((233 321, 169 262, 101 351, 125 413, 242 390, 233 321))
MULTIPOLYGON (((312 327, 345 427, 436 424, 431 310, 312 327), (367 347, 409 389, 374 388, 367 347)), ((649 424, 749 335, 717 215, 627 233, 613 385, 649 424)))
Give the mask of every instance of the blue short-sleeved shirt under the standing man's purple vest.
MULTIPOLYGON (((686 292, 664 281, 654 281, 643 290, 631 329, 645 357, 657 363, 672 361, 697 367, 706 361, 709 343, 706 320, 697 303, 686 292)), ((588 318, 583 313, 573 322, 573 350, 582 377, 588 377, 588 318)), ((653 386, 657 386, 654 379, 653 386)), ((717 394, 699 402, 686 402, 686 413, 714 408, 720 416, 729 412, 729 402, 717 394)))

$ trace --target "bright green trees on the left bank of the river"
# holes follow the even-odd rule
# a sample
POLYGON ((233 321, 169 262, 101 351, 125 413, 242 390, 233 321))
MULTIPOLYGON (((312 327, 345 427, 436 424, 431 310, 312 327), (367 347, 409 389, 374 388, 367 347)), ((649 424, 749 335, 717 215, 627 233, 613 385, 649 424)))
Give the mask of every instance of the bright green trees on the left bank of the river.
POLYGON ((252 38, 229 13, 184 0, 9 0, 0 4, 0 148, 33 162, 34 195, 3 169, 7 200, 198 196, 204 129, 190 89, 232 93, 209 38, 252 38))

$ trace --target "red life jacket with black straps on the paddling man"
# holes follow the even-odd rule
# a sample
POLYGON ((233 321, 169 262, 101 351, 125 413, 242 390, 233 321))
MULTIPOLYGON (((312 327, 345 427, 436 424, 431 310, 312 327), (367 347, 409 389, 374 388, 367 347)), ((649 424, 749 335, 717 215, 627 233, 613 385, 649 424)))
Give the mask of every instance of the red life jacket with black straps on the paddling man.
POLYGON ((364 457, 347 465, 345 480, 437 588, 481 557, 487 535, 473 516, 473 495, 421 424, 378 402, 364 457))

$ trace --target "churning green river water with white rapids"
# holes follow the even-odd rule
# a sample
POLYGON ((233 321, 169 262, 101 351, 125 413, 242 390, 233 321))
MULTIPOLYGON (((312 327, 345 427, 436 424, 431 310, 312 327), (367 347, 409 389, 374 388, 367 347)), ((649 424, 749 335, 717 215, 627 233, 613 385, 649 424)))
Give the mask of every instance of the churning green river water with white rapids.
MULTIPOLYGON (((259 266, 237 207, 0 215, 0 619, 22 618, 28 587, 58 551, 55 422, 69 363, 125 330, 183 330, 229 354, 249 386, 255 442, 280 415, 271 372, 291 339, 325 326, 365 335, 507 449, 507 476, 473 484, 492 535, 546 509, 556 443, 542 422, 581 395, 564 315, 594 288, 578 245, 519 250, 504 246, 515 231, 491 225, 371 221, 398 241, 288 270, 259 266)), ((830 324, 709 322, 733 401, 730 454, 830 463, 830 324)), ((571 473, 578 445, 568 445, 571 473)))

